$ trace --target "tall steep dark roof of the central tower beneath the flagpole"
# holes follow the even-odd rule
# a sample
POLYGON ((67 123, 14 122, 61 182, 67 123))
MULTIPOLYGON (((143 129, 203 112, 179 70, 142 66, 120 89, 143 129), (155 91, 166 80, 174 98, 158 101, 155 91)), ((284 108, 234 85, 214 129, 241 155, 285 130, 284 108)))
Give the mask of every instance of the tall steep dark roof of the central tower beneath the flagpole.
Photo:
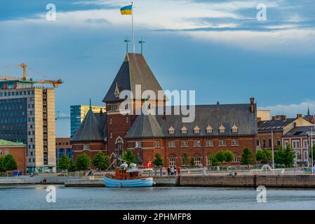
POLYGON ((161 85, 145 61, 145 57, 141 54, 128 53, 103 102, 122 100, 115 96, 116 87, 118 87, 119 92, 130 90, 135 97, 135 85, 141 85, 141 93, 145 90, 153 90, 156 97, 158 96, 158 90, 162 90, 161 85))

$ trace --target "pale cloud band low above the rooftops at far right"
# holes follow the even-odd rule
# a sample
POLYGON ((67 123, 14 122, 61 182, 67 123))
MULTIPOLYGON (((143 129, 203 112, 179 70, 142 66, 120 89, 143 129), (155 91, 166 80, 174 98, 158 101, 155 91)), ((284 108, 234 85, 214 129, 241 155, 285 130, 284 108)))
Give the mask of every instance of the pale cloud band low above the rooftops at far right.
POLYGON ((315 102, 301 102, 300 104, 277 104, 274 106, 262 106, 258 107, 260 110, 271 110, 273 116, 284 114, 290 118, 295 118, 298 113, 302 113, 303 115, 307 115, 307 106, 309 106, 309 111, 311 114, 315 113, 315 102))

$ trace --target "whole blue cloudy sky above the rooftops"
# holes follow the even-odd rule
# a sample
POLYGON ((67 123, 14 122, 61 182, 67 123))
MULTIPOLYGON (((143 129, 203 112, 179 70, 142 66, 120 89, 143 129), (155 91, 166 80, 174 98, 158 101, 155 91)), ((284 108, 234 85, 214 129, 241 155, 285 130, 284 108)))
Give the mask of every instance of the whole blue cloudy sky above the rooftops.
MULTIPOLYGON (((1 0, 0 75, 62 78, 56 111, 102 105, 131 38, 121 0, 1 0), (46 5, 56 20, 46 20, 46 5)), ((143 38, 147 62, 164 90, 196 90, 196 104, 247 103, 255 97, 272 113, 315 111, 315 1, 135 0, 136 51, 143 38), (267 20, 256 18, 257 4, 267 20)), ((57 121, 58 137, 69 120, 57 121)))

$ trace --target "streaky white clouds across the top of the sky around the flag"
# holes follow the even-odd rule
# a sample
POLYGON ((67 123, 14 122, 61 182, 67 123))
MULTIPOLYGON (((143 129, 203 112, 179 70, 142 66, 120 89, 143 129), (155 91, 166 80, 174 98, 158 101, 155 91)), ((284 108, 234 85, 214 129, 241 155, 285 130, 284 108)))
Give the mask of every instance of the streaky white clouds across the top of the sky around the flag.
MULTIPOLYGON (((272 51, 315 51, 315 29, 296 29, 290 25, 274 25, 282 28, 279 31, 180 31, 180 29, 200 29, 206 27, 238 27, 239 20, 244 18, 239 10, 253 8, 253 15, 257 12, 258 1, 228 1, 228 2, 195 2, 189 0, 138 0, 134 3, 135 29, 174 29, 183 36, 190 36, 201 41, 215 41, 227 45, 234 45, 248 50, 272 51), (212 23, 202 18, 220 18, 222 22, 212 23), (224 22, 224 18, 229 21, 224 22), (201 19, 201 20, 198 20, 201 19)), ((281 7, 276 1, 264 1, 267 8, 281 7)), ((53 25, 66 27, 85 27, 88 29, 130 29, 131 18, 121 16, 120 6, 126 6, 125 0, 95 0, 77 1, 74 4, 94 4, 115 6, 116 8, 102 8, 94 10, 57 11, 55 22, 46 21, 45 13, 37 19, 13 20, 8 23, 30 23, 39 25, 53 25)), ((292 21, 300 21, 297 14, 292 15, 292 21)), ((1 22, 0 22, 1 25, 1 22)), ((270 26, 269 26, 270 27, 270 26)))

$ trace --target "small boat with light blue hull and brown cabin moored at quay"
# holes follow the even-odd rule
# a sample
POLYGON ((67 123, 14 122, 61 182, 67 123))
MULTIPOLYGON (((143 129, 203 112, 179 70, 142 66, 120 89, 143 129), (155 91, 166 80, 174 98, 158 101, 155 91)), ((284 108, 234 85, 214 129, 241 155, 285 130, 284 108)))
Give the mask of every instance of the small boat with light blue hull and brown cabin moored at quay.
POLYGON ((128 165, 123 163, 121 167, 116 167, 115 175, 105 176, 105 186, 107 188, 140 188, 154 185, 153 177, 141 174, 141 172, 150 172, 151 169, 135 169, 133 164, 130 165, 131 169, 127 167, 128 165))

